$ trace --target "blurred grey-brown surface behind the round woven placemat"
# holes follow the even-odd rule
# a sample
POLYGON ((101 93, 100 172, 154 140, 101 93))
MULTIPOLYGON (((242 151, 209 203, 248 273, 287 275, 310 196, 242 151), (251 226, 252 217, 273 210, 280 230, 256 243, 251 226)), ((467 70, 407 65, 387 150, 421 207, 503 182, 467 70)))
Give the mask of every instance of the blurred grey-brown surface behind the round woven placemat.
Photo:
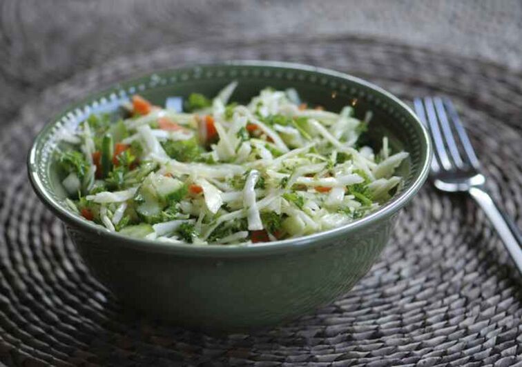
MULTIPOLYGON (((295 41, 295 47, 306 48, 304 40, 355 36, 519 69, 521 30, 517 0, 3 0, 0 117, 14 117, 43 88, 79 72, 168 46, 191 53, 195 61, 212 61, 238 44, 255 48, 281 41, 288 47, 295 41)), ((349 43, 343 47, 349 54, 349 43)), ((229 56, 292 58, 273 48, 229 56)))

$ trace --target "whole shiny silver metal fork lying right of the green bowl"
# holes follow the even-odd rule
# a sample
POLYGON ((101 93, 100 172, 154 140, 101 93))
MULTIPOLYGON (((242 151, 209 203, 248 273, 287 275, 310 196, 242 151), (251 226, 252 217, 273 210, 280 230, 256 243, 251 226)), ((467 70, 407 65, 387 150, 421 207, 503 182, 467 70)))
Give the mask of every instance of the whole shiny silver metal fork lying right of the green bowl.
POLYGON ((453 103, 443 97, 425 97, 416 98, 414 107, 434 142, 431 177, 435 187, 445 192, 470 194, 490 219, 522 274, 521 231, 487 192, 486 177, 481 173, 479 159, 453 103))

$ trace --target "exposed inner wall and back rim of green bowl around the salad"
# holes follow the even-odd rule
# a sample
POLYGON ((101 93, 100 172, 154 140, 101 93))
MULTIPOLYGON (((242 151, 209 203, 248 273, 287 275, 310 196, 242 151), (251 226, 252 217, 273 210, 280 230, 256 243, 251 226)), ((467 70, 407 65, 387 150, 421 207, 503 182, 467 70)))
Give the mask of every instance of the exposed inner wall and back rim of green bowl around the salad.
MULTIPOLYGON (((371 111, 373 117, 367 132, 369 145, 380 149, 382 137, 387 136, 392 150, 409 152, 409 158, 397 170, 397 174, 405 179, 404 185, 389 203, 371 217, 378 217, 379 212, 398 210, 423 183, 430 156, 427 132, 411 110, 396 97, 361 79, 331 70, 288 63, 236 61, 155 72, 124 81, 69 106, 43 128, 30 152, 28 167, 37 193, 68 223, 95 226, 72 213, 64 202, 63 177, 59 177, 53 164, 60 128, 64 125, 77 126, 91 113, 115 111, 122 101, 128 101, 136 93, 164 106, 166 98, 187 97, 191 92, 212 97, 233 80, 239 84, 231 100, 240 103, 246 103, 262 88, 270 86, 276 89, 296 88, 302 101, 311 106, 323 106, 325 110, 338 112, 342 107, 352 105, 356 117, 360 119, 371 111)), ((358 221, 365 220, 367 218, 358 221)))

